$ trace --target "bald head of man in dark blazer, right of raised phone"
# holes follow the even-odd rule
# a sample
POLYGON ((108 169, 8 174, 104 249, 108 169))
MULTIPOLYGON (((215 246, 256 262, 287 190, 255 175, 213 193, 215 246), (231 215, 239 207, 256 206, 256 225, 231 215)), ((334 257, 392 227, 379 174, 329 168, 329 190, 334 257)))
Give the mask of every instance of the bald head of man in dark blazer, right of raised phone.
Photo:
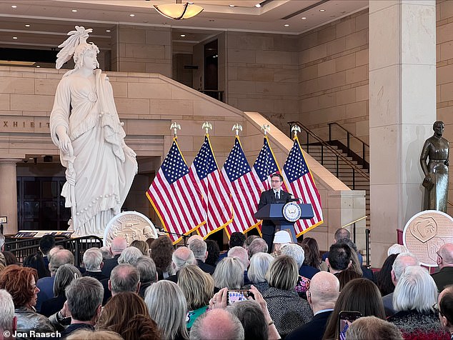
POLYGON ((339 296, 337 276, 327 271, 319 271, 314 274, 307 296, 314 313, 322 309, 334 308, 339 296))

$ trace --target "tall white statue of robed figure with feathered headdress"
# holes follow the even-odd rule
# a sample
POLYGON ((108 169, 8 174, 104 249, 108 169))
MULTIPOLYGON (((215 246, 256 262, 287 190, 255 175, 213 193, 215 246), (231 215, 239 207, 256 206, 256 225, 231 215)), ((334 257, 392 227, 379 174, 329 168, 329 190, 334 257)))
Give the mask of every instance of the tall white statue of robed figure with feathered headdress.
POLYGON ((137 172, 111 84, 97 69, 99 49, 86 43, 91 31, 76 26, 59 46, 56 69, 73 55, 76 66, 61 79, 50 116, 51 138, 66 168, 61 196, 71 207, 70 229, 78 236, 104 235, 106 225, 121 212, 137 172))

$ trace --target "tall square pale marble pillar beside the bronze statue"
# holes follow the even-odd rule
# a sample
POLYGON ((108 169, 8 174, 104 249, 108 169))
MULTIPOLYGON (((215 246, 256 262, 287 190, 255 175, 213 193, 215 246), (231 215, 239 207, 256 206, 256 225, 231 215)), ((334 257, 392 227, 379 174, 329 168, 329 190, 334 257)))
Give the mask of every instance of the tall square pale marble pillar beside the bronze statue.
POLYGON ((419 156, 436 121, 436 1, 369 1, 372 265, 422 210, 419 156))

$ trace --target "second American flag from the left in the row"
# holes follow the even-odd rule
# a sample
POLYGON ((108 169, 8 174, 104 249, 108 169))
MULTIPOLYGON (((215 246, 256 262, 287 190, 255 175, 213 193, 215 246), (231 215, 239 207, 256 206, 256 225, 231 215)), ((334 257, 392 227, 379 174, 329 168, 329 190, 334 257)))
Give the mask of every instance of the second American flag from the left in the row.
POLYGON ((197 232, 205 238, 232 221, 232 200, 229 186, 217 166, 209 135, 206 134, 204 137, 204 143, 190 170, 194 173, 196 185, 203 195, 206 224, 200 226, 197 232))

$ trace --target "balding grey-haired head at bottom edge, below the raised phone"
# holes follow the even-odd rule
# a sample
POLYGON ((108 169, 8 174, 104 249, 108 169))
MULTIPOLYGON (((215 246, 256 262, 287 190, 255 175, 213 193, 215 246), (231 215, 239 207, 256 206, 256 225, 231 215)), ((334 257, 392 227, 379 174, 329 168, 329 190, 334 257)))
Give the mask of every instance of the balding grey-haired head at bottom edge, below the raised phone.
POLYGON ((199 316, 190 331, 191 340, 244 340, 241 321, 225 309, 212 309, 199 316))

